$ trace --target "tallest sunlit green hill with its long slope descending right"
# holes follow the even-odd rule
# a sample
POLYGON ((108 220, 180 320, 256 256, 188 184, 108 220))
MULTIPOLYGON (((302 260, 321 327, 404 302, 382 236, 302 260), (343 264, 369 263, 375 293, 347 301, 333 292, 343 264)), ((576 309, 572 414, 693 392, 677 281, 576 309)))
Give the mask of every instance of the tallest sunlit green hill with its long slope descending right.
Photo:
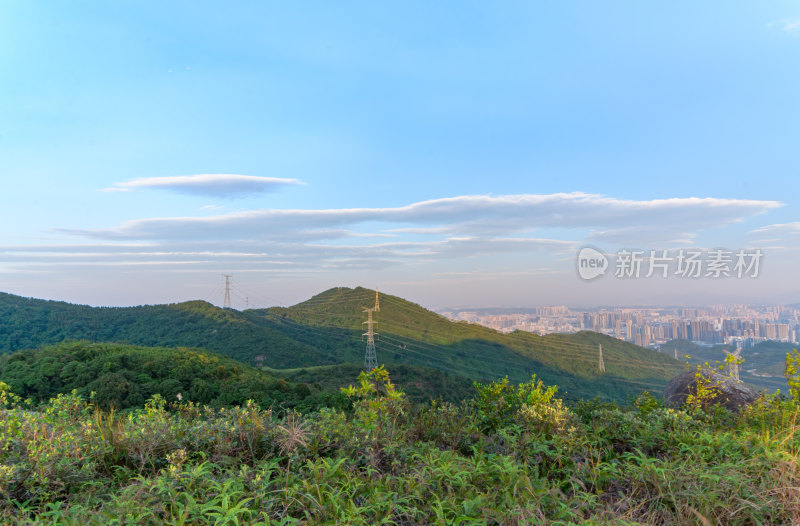
MULTIPOLYGON (((334 288, 290 308, 248 311, 282 325, 287 334, 313 344, 321 335, 330 350, 363 356, 364 308, 374 307, 369 289, 334 288), (341 352, 341 351, 340 351, 341 352)), ((508 376, 525 381, 536 374, 558 385, 568 399, 623 399, 643 389, 660 390, 680 372, 679 362, 661 353, 607 336, 582 332, 539 336, 502 334, 481 325, 453 322, 396 296, 380 294, 376 347, 379 361, 413 363, 474 380, 508 376), (603 346, 606 373, 598 367, 603 346)))

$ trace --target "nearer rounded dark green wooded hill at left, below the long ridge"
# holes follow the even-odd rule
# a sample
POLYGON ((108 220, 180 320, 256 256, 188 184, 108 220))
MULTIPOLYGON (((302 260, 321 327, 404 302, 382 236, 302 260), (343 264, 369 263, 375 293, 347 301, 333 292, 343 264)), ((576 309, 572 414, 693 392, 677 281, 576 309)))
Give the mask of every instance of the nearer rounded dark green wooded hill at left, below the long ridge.
POLYGON ((141 407, 153 395, 222 407, 316 408, 341 395, 277 378, 218 354, 187 348, 69 342, 0 356, 0 381, 46 401, 73 389, 100 407, 141 407), (330 395, 330 396, 329 396, 330 395))

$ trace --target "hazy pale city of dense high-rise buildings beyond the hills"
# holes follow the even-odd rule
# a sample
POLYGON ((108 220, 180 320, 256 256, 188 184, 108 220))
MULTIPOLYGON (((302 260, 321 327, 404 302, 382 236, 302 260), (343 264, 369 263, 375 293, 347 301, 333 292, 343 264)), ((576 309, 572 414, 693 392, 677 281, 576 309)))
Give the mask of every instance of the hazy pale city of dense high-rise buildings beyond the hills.
POLYGON ((531 309, 451 309, 441 314, 502 332, 549 334, 591 330, 653 348, 677 339, 701 345, 733 343, 749 347, 765 340, 798 343, 800 336, 800 308, 781 305, 595 309, 559 305, 531 309))

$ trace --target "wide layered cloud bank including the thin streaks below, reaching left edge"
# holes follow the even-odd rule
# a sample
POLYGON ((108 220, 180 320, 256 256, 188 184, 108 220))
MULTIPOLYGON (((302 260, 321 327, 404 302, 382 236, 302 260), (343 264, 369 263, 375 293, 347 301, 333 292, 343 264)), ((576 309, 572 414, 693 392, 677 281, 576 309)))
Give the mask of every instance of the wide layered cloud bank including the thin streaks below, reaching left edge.
MULTIPOLYGON (((125 272, 184 268, 297 277, 387 268, 466 272, 496 258, 509 272, 534 261, 537 266, 530 268, 544 264, 552 270, 570 266, 577 247, 587 240, 617 247, 690 244, 700 231, 779 206, 776 201, 636 201, 572 193, 457 196, 391 208, 145 218, 113 228, 59 230, 94 240, 87 243, 0 247, 0 265, 56 273, 67 272, 62 268, 85 274, 100 267, 125 272)), ((788 228, 770 225, 759 231, 777 227, 788 228)))

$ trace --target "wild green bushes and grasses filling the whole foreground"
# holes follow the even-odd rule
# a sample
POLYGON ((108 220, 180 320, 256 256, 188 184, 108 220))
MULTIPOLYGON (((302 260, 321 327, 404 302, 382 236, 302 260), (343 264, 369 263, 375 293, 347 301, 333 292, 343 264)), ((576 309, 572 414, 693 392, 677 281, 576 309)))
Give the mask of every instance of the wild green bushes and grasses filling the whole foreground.
POLYGON ((798 402, 567 407, 535 377, 412 406, 378 368, 351 408, 151 397, 125 414, 0 384, 0 523, 798 524, 798 402))

